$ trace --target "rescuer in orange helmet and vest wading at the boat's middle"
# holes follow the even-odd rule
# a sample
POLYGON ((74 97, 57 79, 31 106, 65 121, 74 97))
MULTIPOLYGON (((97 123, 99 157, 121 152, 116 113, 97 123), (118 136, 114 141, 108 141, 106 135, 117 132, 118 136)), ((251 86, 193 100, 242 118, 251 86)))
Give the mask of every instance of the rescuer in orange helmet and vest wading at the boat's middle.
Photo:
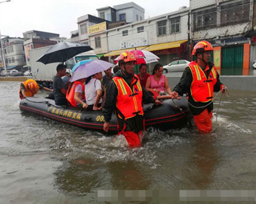
POLYGON ((140 84, 139 77, 134 74, 136 59, 131 52, 125 51, 119 56, 120 70, 116 72, 107 86, 103 105, 104 131, 109 128, 113 111, 116 111, 118 135, 123 134, 130 147, 140 147, 143 123, 142 103, 162 104, 153 99, 140 84))

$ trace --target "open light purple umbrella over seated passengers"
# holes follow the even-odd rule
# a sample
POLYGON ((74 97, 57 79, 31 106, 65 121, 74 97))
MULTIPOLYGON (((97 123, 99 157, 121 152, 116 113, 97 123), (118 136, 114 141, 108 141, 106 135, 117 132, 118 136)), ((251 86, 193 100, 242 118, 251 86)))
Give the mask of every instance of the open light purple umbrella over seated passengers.
POLYGON ((73 82, 80 80, 82 78, 90 77, 91 75, 94 75, 98 72, 107 70, 111 66, 113 66, 113 64, 105 62, 103 60, 94 60, 91 62, 87 62, 76 68, 75 72, 73 73, 69 81, 73 82))

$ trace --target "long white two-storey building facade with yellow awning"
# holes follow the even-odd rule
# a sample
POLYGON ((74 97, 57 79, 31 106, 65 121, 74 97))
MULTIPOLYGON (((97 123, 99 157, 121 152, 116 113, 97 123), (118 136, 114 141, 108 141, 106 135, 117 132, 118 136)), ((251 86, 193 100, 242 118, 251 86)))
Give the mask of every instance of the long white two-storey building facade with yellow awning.
MULTIPOLYGON (((166 13, 144 21, 107 30, 109 53, 117 56, 124 50, 143 49, 160 57, 167 65, 174 57, 186 59, 189 8, 166 13)), ((154 63, 151 63, 151 67, 154 63)))

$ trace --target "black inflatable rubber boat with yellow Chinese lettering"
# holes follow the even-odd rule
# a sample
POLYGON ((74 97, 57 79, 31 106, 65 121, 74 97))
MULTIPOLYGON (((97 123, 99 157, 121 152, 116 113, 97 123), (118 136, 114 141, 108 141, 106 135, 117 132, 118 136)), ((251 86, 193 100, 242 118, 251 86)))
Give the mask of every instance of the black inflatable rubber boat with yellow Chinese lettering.
MULTIPOLYGON (((163 105, 144 105, 145 127, 155 127, 161 130, 184 126, 192 119, 186 101, 166 99, 163 105)), ((81 108, 55 105, 54 100, 37 97, 27 97, 20 101, 20 110, 62 123, 71 124, 82 129, 103 132, 104 116, 102 111, 82 110, 81 108)), ((113 113, 108 133, 117 133, 117 119, 113 113)))

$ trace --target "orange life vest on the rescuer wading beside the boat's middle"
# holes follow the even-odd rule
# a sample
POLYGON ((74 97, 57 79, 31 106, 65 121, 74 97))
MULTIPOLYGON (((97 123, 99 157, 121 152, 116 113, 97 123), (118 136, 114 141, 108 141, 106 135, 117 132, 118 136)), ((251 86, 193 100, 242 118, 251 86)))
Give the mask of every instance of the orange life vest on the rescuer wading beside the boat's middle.
POLYGON ((134 75, 130 87, 122 77, 113 77, 117 86, 118 95, 116 101, 117 115, 124 120, 134 117, 136 114, 143 115, 142 86, 139 77, 134 75))

